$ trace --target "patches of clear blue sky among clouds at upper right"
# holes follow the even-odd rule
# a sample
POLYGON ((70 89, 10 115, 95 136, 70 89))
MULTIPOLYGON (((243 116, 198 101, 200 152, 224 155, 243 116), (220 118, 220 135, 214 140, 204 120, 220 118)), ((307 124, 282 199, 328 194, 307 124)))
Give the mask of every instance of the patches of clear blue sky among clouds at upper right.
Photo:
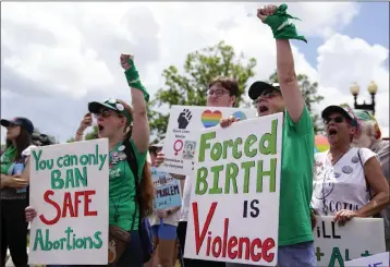
MULTIPOLYGON (((358 15, 338 32, 352 38, 365 39, 369 45, 378 44, 389 48, 389 2, 361 2, 358 15)), ((313 66, 317 65, 317 48, 322 44, 320 37, 310 37, 308 44, 294 41, 313 66)), ((389 70, 389 58, 385 64, 389 70)))

